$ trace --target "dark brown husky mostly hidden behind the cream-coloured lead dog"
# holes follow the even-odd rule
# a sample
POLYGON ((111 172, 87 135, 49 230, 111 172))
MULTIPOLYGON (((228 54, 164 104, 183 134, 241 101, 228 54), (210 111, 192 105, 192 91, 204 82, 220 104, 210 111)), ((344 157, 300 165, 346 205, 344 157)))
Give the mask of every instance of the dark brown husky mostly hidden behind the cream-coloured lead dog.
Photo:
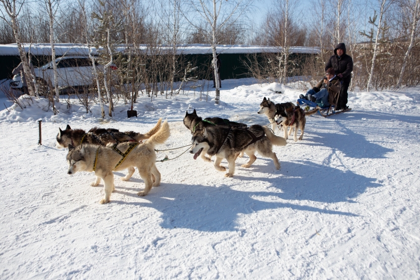
POLYGON ((67 148, 69 144, 77 146, 79 144, 96 144, 105 146, 110 143, 120 142, 140 142, 145 139, 149 139, 150 136, 155 134, 161 128, 162 118, 159 119, 158 123, 146 134, 141 134, 134 131, 120 132, 118 129, 113 128, 97 128, 90 129, 87 133, 82 129, 71 129, 67 125, 65 130, 59 128, 59 134, 57 134, 57 148, 67 148))

